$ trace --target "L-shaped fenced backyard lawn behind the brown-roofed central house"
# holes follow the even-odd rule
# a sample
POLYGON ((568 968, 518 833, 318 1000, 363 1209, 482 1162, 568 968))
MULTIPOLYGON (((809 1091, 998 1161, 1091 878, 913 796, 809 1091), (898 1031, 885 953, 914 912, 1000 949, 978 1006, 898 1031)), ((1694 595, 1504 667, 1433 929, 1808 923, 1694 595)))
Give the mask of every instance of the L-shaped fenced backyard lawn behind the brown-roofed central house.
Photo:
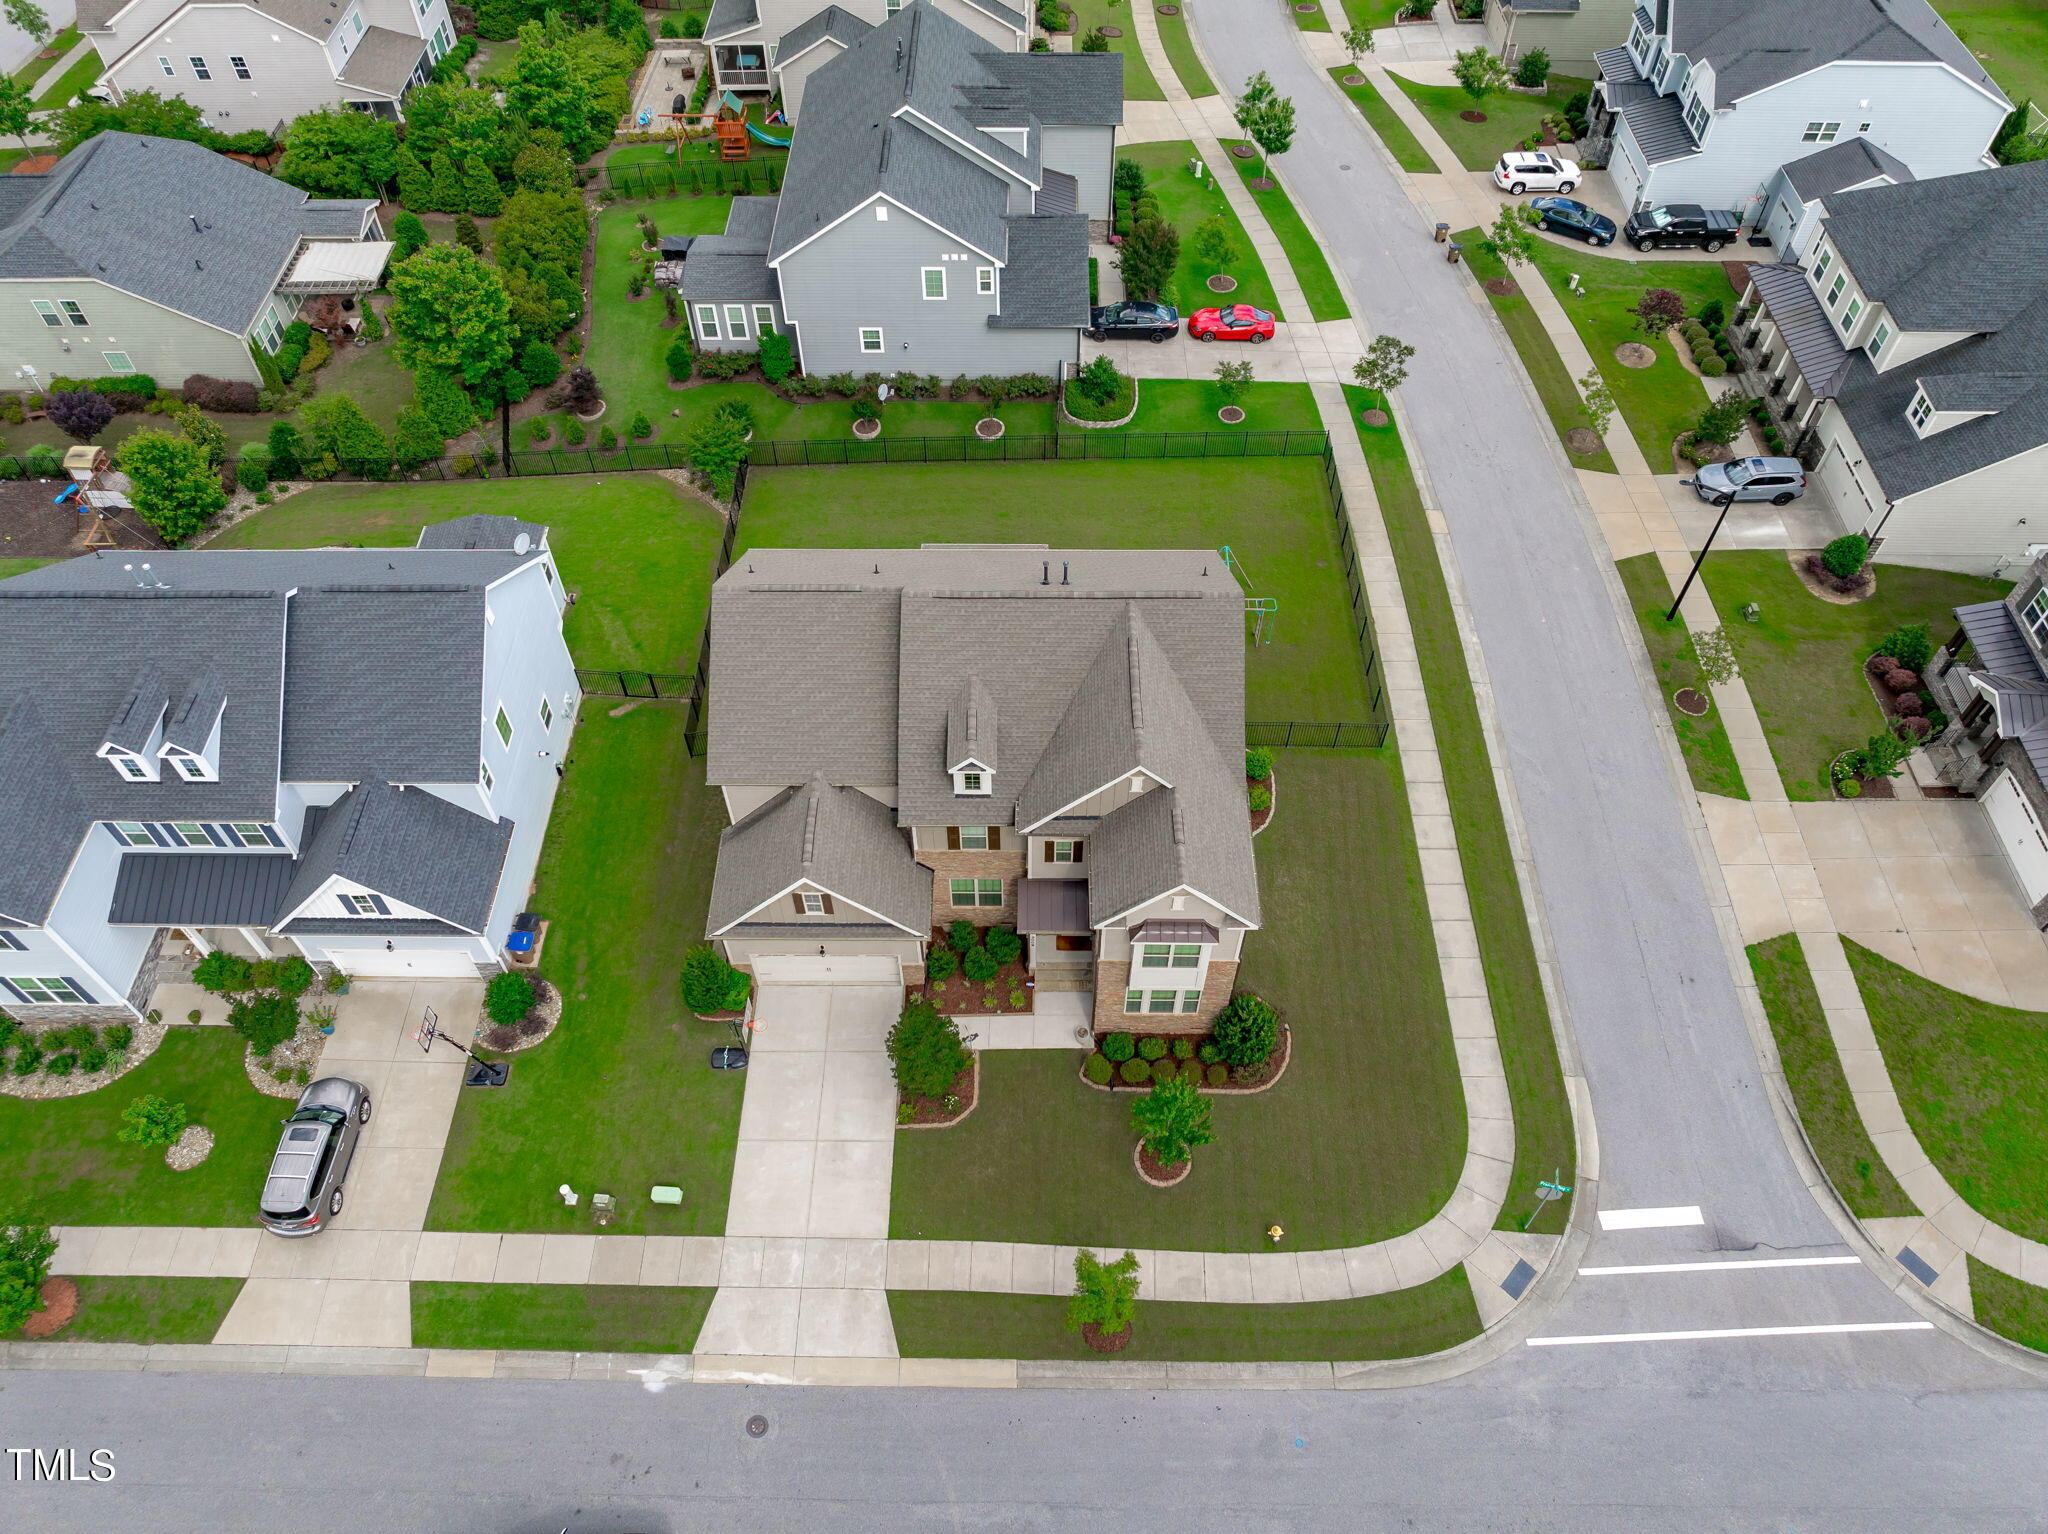
POLYGON ((1280 604, 1272 643, 1245 657, 1245 715, 1364 721, 1372 715, 1321 475, 1319 457, 764 469, 748 481, 739 539, 754 549, 1229 545, 1247 590, 1280 604))

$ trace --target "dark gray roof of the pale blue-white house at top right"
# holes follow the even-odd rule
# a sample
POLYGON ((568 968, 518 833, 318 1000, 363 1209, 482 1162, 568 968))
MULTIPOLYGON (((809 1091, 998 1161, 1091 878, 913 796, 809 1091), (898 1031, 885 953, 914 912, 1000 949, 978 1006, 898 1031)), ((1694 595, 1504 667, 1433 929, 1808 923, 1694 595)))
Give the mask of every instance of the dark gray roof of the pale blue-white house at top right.
POLYGON ((1939 61, 2005 98, 1927 0, 1673 0, 1671 43, 1714 66, 1718 106, 1837 59, 1939 61))

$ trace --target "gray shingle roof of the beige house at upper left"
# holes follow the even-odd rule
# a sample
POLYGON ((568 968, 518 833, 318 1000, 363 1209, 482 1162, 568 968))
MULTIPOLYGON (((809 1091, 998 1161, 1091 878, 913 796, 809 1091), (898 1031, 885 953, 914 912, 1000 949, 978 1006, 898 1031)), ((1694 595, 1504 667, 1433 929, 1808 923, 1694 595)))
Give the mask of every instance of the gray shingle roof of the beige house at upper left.
POLYGON ((301 233, 334 231, 336 215, 354 233, 375 207, 313 203, 197 143, 135 133, 100 133, 47 176, 6 180, 0 281, 100 281, 238 336, 301 233))

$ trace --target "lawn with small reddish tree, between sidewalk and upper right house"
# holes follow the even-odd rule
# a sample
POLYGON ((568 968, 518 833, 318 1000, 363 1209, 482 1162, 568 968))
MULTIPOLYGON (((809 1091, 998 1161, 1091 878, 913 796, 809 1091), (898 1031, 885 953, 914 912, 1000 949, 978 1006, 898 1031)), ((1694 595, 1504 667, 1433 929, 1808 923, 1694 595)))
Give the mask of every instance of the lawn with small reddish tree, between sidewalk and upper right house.
MULTIPOLYGON (((1735 289, 1729 287, 1720 264, 1616 260, 1538 240, 1536 270, 1544 274, 1571 324, 1579 328, 1579 340, 1593 354, 1593 365, 1614 391, 1622 420, 1636 434, 1642 457, 1651 461, 1651 473, 1671 473, 1671 442, 1706 410, 1706 385, 1686 371, 1663 336, 1645 336, 1628 311, 1653 287, 1669 287, 1683 295, 1688 313, 1698 313, 1710 299, 1735 307, 1735 289), (1579 274, 1585 297, 1573 295, 1571 272, 1579 274), (1657 363, 1634 369, 1614 360, 1614 348, 1630 340, 1651 346, 1657 363)), ((1516 281, 1534 279, 1518 272, 1516 281)))

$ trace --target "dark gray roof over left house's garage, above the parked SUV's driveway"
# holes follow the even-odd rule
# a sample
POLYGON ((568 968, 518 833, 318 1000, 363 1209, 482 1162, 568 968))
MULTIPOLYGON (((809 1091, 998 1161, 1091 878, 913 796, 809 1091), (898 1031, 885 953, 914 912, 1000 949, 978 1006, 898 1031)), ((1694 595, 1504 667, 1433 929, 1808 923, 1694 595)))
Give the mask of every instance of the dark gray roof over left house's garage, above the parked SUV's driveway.
POLYGON ((319 817, 281 909, 295 911, 338 877, 483 932, 510 842, 508 819, 487 821, 424 789, 362 782, 319 817))

